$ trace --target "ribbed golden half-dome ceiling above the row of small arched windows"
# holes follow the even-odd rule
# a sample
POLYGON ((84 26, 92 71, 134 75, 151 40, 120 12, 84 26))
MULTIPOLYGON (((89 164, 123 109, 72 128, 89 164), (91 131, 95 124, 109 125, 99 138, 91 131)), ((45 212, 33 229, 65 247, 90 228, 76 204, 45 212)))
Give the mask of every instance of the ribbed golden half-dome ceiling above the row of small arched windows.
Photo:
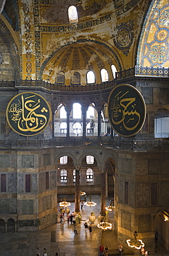
POLYGON ((101 68, 110 70, 115 64, 115 56, 104 46, 94 42, 77 42, 65 46, 55 53, 43 71, 43 79, 54 82, 58 71, 64 71, 69 76, 74 71, 86 74, 88 70, 100 73, 101 68))

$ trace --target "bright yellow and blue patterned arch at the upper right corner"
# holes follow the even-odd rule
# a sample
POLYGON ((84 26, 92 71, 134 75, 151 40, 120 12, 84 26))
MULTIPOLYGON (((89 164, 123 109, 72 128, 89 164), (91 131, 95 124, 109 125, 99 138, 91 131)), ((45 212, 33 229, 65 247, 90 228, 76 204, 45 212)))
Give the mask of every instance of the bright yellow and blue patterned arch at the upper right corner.
POLYGON ((160 0, 152 1, 146 15, 146 19, 143 23, 139 45, 137 48, 138 66, 168 68, 169 23, 166 17, 168 17, 168 3, 160 0))

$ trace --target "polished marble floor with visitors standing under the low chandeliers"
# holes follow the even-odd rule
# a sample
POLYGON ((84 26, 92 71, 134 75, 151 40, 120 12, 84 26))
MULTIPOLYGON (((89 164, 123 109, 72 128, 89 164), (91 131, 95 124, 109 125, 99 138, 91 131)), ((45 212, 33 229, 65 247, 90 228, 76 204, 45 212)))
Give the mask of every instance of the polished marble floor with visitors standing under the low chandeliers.
MULTIPOLYGON (((89 199, 87 198, 87 201, 89 199)), ((103 231, 97 228, 98 219, 92 225, 92 232, 85 232, 83 223, 88 221, 91 212, 95 212, 95 216, 99 217, 101 204, 100 196, 92 196, 92 201, 97 205, 90 208, 83 205, 81 210, 81 223, 77 223, 77 234, 74 235, 73 225, 65 221, 51 225, 37 232, 0 232, 0 256, 34 256, 37 254, 36 248, 41 250, 47 249, 48 256, 54 256, 58 253, 59 256, 98 256, 99 246, 108 246, 111 253, 117 252, 117 237, 113 230, 103 231)), ((106 201, 109 205, 110 201, 106 201)), ((58 205, 59 208, 59 205, 58 205)), ((70 205, 70 213, 74 211, 74 202, 70 205)), ((113 224, 114 214, 110 212, 108 218, 113 224)), ((168 255, 159 248, 156 255, 168 255)))

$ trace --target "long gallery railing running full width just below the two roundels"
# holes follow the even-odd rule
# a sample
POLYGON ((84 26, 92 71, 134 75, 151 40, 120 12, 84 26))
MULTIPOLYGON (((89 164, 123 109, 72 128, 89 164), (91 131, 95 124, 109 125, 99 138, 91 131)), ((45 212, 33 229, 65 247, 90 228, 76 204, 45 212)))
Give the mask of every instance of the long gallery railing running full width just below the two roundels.
POLYGON ((54 138, 48 140, 0 140, 0 148, 27 149, 27 148, 48 148, 48 147, 112 147, 113 149, 147 151, 147 150, 168 150, 169 140, 117 140, 112 138, 54 138))

